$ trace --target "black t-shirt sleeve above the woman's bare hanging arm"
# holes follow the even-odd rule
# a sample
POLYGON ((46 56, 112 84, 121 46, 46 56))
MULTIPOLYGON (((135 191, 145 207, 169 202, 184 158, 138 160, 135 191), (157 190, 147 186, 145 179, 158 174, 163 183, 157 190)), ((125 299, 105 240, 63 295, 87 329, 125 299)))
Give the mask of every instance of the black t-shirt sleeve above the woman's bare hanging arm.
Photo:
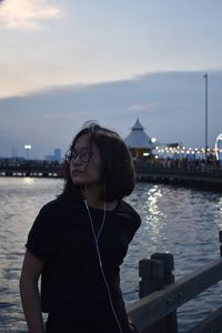
POLYGON ((38 259, 47 261, 58 246, 56 216, 49 206, 43 206, 28 234, 27 249, 38 259))

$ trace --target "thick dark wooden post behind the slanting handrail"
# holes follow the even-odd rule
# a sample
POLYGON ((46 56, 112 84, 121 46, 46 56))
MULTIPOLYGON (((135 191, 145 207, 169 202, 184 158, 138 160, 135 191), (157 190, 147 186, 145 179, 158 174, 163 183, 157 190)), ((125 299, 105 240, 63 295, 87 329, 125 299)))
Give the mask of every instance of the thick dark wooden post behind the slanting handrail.
MULTIPOLYGON (((139 262, 139 275, 141 278, 139 296, 144 297, 167 284, 174 283, 173 269, 173 255, 171 253, 154 253, 150 260, 141 260, 139 262)), ((178 333, 176 312, 170 313, 142 333, 178 333)))

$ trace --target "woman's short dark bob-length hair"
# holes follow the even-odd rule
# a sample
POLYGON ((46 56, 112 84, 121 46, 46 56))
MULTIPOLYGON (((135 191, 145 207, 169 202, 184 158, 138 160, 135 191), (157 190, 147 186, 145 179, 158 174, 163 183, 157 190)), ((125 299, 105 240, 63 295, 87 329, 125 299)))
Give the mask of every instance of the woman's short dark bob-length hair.
MULTIPOLYGON (((131 153, 121 137, 107 128, 100 127, 95 122, 90 122, 74 137, 70 150, 73 149, 77 140, 89 134, 90 147, 97 145, 102 159, 102 182, 103 193, 101 199, 105 201, 120 200, 129 195, 135 183, 134 167, 131 153)), ((61 195, 79 194, 80 186, 74 185, 69 170, 69 161, 64 160, 64 188, 61 195)))

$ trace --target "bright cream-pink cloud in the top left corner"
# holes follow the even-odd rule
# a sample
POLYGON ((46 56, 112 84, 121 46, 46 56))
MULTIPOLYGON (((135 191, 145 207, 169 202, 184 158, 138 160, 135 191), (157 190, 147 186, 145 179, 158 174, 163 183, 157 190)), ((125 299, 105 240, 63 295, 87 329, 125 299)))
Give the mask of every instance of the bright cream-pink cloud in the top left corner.
POLYGON ((0 4, 0 22, 11 29, 36 29, 40 20, 53 19, 61 12, 47 0, 4 0, 0 4))

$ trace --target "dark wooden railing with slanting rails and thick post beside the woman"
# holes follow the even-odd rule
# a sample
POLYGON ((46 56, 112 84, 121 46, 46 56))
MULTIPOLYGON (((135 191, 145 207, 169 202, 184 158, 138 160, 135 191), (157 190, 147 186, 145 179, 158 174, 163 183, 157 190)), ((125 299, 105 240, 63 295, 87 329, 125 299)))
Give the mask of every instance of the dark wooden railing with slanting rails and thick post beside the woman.
MULTIPOLYGON (((222 242, 221 231, 219 238, 222 242)), ((170 253, 155 253, 151 259, 140 261, 140 300, 128 305, 128 314, 141 333, 178 333, 176 309, 222 281, 221 258, 176 282, 173 269, 173 256, 170 253)), ((222 332, 222 306, 188 331, 211 332, 222 332)))

